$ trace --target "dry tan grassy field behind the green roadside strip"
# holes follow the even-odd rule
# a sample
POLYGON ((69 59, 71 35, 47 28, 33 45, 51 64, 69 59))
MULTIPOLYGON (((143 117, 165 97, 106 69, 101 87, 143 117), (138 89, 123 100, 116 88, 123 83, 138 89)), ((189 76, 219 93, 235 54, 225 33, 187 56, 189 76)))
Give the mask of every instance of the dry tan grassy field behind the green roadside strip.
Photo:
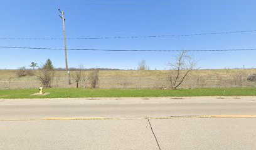
MULTIPOLYGON (((29 89, 40 87, 35 76, 18 78, 16 70, 0 70, 0 89, 29 89)), ((85 77, 89 71, 83 71, 85 77)), ((256 83, 248 82, 248 74, 256 73, 256 69, 205 69, 193 71, 181 84, 181 88, 235 88, 256 87, 256 83)), ((74 72, 71 72, 74 74, 74 72)), ((98 88, 102 89, 161 89, 168 88, 168 71, 100 71, 98 88)), ((73 81, 72 81, 73 82, 73 81)), ((87 80, 80 83, 81 88, 88 88, 87 80)), ((75 84, 67 84, 67 73, 56 71, 54 88, 75 88, 75 84)))

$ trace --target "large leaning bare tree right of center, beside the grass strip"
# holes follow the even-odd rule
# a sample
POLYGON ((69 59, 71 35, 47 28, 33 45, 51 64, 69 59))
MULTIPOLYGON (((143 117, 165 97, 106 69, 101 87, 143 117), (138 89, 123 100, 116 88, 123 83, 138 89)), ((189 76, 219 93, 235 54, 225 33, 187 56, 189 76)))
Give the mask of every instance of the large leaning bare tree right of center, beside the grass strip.
POLYGON ((188 74, 196 69, 197 61, 186 54, 186 51, 182 51, 175 58, 173 63, 169 63, 168 81, 172 89, 177 89, 188 76, 188 74))

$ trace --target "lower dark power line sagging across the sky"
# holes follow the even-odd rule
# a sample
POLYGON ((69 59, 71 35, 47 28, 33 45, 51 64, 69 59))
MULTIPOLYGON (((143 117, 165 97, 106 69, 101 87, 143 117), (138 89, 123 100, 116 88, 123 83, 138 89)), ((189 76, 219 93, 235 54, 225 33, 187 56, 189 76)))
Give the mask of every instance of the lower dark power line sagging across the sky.
MULTIPOLYGON (((63 50, 63 48, 49 47, 16 47, 16 46, 0 46, 0 48, 11 49, 46 49, 46 50, 63 50)), ((256 49, 67 49, 68 51, 154 51, 154 52, 179 52, 179 51, 256 51, 256 49)))

